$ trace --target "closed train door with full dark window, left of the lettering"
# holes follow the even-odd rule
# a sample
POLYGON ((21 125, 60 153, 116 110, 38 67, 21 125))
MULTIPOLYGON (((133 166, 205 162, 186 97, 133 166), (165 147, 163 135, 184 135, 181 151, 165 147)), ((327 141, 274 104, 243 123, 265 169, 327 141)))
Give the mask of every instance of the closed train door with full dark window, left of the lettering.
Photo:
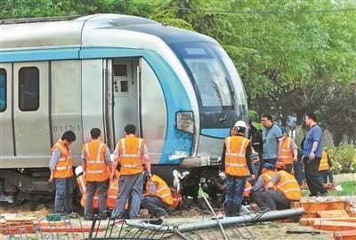
MULTIPOLYGON (((51 149, 49 119, 49 63, 13 64, 13 123, 16 156, 48 157, 51 149)), ((36 157, 39 159, 39 157, 36 157)))

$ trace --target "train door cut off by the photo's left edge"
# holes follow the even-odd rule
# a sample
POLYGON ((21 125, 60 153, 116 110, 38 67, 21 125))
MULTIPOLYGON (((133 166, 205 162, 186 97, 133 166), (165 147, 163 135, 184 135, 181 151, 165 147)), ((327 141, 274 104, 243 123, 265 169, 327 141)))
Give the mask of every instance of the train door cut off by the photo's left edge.
MULTIPOLYGON (((0 156, 14 156, 12 136, 12 64, 0 64, 0 156)), ((3 167, 0 165, 0 168, 3 167)))

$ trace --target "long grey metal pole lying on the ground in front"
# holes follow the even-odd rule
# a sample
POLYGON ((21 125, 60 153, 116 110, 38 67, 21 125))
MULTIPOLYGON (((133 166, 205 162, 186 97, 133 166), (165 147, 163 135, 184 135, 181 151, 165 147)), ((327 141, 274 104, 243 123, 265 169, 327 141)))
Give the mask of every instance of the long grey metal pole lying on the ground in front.
MULTIPOLYGON (((239 216, 239 217, 229 217, 220 220, 222 225, 234 225, 237 223, 252 223, 252 222, 259 222, 259 221, 269 221, 269 220, 279 220, 289 216, 296 216, 303 214, 303 208, 295 208, 295 209, 287 209, 281 211, 271 211, 266 212, 261 216, 258 220, 254 220, 256 217, 256 213, 250 213, 248 215, 239 216)), ((136 225, 137 226, 137 225, 136 225)), ((186 232, 190 231, 191 229, 204 229, 204 228, 216 228, 218 223, 215 220, 206 220, 205 222, 200 223, 191 223, 191 224, 184 224, 178 227, 179 231, 186 232)), ((140 226, 142 227, 142 226, 140 226)), ((137 227, 136 227, 137 228, 137 227)))

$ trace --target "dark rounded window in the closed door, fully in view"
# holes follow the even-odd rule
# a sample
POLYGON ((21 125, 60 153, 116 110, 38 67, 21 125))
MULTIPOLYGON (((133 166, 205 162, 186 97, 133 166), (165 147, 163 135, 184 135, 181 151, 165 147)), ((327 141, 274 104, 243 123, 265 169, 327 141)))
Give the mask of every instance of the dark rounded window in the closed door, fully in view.
POLYGON ((39 70, 36 67, 19 70, 19 108, 21 111, 39 108, 39 70))

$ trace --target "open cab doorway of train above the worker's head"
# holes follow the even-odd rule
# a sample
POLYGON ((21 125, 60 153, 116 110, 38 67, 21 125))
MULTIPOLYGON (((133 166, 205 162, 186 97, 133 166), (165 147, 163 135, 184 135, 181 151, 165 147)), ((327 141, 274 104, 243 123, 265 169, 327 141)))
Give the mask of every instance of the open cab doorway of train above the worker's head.
POLYGON ((136 134, 141 135, 138 107, 138 59, 114 59, 113 112, 115 140, 125 136, 126 124, 136 126, 136 134))

